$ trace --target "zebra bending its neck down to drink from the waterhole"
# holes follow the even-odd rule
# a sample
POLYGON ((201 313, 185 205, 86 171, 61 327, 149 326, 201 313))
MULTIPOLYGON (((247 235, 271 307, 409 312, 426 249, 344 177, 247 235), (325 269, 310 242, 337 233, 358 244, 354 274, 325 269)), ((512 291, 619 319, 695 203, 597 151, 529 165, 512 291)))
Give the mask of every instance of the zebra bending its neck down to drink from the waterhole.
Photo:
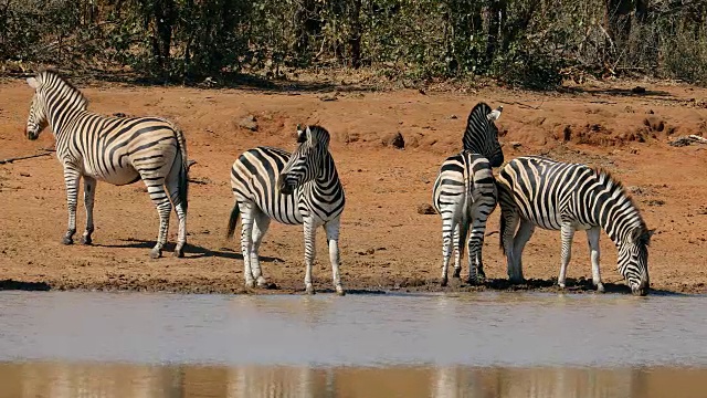
POLYGON ((632 293, 647 294, 647 247, 653 230, 647 229, 636 205, 609 171, 540 156, 524 156, 503 167, 497 185, 502 209, 500 247, 513 282, 524 280, 523 250, 537 226, 561 231, 558 285, 564 289, 574 231, 585 230, 592 281, 597 290, 603 292, 599 271, 599 238, 603 229, 619 250, 618 268, 632 293))

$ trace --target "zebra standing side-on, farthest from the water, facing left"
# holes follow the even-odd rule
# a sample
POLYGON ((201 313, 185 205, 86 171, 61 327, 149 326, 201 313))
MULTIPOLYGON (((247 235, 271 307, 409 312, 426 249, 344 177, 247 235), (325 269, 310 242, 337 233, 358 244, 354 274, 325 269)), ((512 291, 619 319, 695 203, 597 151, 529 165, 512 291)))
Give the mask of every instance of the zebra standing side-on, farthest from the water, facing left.
POLYGON ((81 177, 86 206, 86 231, 81 239, 84 244, 92 243, 96 181, 120 186, 143 179, 160 220, 157 244, 150 256, 159 258, 167 242, 170 199, 179 218, 175 255, 182 256, 187 243, 188 167, 187 143, 181 129, 157 117, 105 117, 92 113, 87 111, 86 97, 50 71, 40 72, 27 82, 34 88, 34 96, 25 134, 29 139, 36 139, 49 125, 56 139, 56 157, 64 167, 68 228, 62 243, 74 242, 81 177))

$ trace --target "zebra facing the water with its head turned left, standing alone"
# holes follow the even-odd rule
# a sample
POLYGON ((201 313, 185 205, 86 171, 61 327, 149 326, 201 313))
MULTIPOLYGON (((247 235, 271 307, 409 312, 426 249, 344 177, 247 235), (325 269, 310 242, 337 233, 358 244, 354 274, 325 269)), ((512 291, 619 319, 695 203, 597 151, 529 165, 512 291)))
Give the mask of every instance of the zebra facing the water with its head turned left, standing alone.
POLYGON ((239 214, 241 250, 243 251, 245 285, 254 281, 265 284, 261 272, 258 249, 275 219, 285 224, 304 224, 305 287, 313 294, 312 265, 315 256, 317 228, 324 226, 329 245, 329 259, 336 292, 344 295, 339 276, 339 221, 344 211, 344 187, 329 154, 329 133, 319 126, 297 126, 294 154, 270 147, 243 153, 231 168, 231 187, 235 205, 229 220, 228 237, 233 237, 239 214))

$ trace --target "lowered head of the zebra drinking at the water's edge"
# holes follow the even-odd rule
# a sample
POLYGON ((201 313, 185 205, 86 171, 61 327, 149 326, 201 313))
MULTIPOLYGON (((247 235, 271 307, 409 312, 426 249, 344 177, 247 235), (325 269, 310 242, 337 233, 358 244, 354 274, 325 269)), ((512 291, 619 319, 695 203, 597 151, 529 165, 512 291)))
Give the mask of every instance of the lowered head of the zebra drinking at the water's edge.
POLYGON ((619 247, 619 272, 631 286, 634 295, 648 294, 648 245, 653 230, 644 226, 635 228, 619 247))

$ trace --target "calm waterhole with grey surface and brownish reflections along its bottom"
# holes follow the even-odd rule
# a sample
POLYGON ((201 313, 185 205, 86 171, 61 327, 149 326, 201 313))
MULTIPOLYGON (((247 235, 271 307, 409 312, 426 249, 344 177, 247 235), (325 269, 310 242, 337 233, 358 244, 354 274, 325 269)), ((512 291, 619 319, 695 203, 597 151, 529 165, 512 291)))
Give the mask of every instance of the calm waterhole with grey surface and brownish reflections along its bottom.
POLYGON ((707 397, 701 296, 1 292, 4 397, 707 397))

